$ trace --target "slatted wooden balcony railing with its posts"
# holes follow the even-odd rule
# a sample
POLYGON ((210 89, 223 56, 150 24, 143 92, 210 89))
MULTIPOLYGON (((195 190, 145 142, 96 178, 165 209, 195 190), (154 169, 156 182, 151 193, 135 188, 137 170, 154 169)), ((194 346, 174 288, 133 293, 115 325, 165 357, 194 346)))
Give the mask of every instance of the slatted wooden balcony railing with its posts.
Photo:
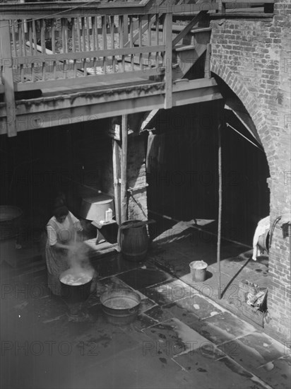
POLYGON ((16 132, 15 93, 61 93, 158 79, 165 83, 165 108, 170 108, 172 50, 187 32, 173 36, 172 15, 215 12, 221 4, 215 0, 182 5, 168 0, 0 4, 0 94, 6 117, 12 118, 7 120, 9 136, 16 132))

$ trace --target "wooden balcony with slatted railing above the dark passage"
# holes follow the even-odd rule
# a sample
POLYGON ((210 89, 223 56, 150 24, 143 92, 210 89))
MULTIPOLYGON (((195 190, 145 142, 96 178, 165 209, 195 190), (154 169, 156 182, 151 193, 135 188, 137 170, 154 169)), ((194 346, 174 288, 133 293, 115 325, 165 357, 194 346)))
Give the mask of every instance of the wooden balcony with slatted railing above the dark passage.
POLYGON ((212 0, 1 4, 0 134, 221 98, 209 52, 205 77, 184 79, 208 50, 207 29, 195 25, 219 8, 212 0), (172 16, 183 12, 194 18, 177 32, 172 16))

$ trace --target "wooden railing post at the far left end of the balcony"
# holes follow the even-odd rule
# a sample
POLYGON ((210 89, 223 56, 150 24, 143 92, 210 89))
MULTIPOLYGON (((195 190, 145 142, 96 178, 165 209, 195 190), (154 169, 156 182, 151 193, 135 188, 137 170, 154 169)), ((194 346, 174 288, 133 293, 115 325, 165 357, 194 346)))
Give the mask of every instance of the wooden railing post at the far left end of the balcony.
POLYGON ((13 59, 10 43, 9 21, 0 21, 0 57, 2 60, 2 82, 4 84, 4 99, 6 103, 6 126, 8 137, 16 137, 16 105, 13 84, 13 59))

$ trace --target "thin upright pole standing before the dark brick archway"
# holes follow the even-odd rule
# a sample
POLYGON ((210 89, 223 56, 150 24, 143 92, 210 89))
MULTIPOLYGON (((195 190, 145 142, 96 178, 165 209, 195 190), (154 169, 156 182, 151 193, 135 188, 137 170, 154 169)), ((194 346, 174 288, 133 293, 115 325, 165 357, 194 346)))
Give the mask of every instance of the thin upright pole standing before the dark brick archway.
POLYGON ((220 243, 221 243, 221 214, 222 214, 222 167, 221 167, 221 127, 218 124, 218 298, 221 298, 221 280, 220 280, 220 243))

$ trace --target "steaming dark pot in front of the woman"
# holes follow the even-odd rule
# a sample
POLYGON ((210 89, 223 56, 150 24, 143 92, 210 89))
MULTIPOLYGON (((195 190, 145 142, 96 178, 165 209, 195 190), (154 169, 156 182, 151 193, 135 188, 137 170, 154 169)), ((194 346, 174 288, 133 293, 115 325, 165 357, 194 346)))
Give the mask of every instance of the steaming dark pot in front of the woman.
POLYGON ((78 276, 78 273, 74 272, 73 269, 68 269, 60 274, 59 281, 61 282, 61 297, 69 304, 81 303, 82 301, 87 300, 90 295, 93 274, 88 273, 90 280, 80 285, 66 284, 66 282, 64 282, 64 277, 69 275, 76 277, 78 276), (62 279, 63 281, 61 281, 62 279))

